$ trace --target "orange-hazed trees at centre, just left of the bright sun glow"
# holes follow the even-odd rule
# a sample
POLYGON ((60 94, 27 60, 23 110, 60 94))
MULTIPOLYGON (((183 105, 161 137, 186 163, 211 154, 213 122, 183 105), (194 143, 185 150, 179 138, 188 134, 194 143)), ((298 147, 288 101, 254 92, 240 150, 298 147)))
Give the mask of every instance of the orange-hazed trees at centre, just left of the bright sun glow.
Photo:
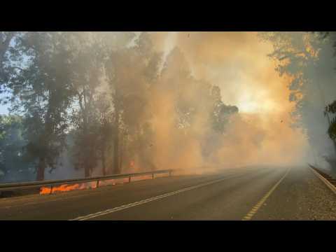
MULTIPOLYGON (((193 155, 195 158, 190 159, 193 164, 190 164, 200 163, 197 160, 200 155, 207 158, 211 154, 209 141, 215 135, 216 139, 221 138, 225 125, 230 122, 230 115, 237 112, 237 107, 232 107, 230 113, 231 107, 223 104, 219 87, 193 76, 186 57, 177 47, 167 55, 151 97, 155 98, 152 102, 155 141, 165 146, 165 152, 158 151, 162 158, 152 157, 158 160, 158 165, 165 165, 162 160, 168 161, 173 157, 186 160, 190 151, 197 152, 193 155)), ((211 151, 216 151, 214 148, 211 151)))

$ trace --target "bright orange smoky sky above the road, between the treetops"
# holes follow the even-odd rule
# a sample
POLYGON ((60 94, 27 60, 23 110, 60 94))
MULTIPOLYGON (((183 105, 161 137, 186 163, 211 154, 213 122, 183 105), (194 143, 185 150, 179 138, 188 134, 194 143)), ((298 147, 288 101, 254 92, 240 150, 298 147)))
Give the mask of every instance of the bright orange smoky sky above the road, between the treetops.
POLYGON ((272 45, 256 32, 161 32, 155 38, 160 50, 179 46, 194 75, 220 86, 223 101, 241 112, 288 111, 286 80, 267 57, 272 45))

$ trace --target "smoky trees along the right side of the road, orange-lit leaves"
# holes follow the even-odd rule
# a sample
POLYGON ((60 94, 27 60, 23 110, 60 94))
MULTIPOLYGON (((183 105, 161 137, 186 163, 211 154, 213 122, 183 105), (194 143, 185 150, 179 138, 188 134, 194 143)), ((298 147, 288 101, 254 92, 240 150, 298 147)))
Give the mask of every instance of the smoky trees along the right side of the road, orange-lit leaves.
MULTIPOLYGON (((336 97, 335 34, 302 31, 259 35, 272 43, 274 50, 269 56, 276 61, 276 71, 288 78, 289 99, 295 104, 293 126, 306 134, 314 162, 325 168, 335 166, 336 146, 328 137, 333 120, 328 112, 332 110, 323 113, 336 97)), ((332 137, 332 130, 329 134, 332 137)))

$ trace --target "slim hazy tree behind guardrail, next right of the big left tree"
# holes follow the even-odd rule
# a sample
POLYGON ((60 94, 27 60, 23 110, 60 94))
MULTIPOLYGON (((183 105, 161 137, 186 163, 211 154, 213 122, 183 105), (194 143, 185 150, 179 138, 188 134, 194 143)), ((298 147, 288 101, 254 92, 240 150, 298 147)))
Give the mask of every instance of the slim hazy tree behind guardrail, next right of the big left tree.
POLYGON ((102 78, 102 55, 91 32, 71 32, 66 36, 71 50, 71 90, 74 94, 71 123, 75 133, 76 168, 91 176, 97 164, 97 122, 95 103, 102 78))

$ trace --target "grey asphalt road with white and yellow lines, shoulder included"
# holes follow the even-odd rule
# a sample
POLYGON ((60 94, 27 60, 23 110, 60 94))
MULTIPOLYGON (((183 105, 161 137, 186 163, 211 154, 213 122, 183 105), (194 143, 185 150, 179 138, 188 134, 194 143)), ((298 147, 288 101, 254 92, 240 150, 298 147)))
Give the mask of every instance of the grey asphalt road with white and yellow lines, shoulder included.
POLYGON ((336 220, 308 167, 246 167, 0 200, 0 220, 336 220))

